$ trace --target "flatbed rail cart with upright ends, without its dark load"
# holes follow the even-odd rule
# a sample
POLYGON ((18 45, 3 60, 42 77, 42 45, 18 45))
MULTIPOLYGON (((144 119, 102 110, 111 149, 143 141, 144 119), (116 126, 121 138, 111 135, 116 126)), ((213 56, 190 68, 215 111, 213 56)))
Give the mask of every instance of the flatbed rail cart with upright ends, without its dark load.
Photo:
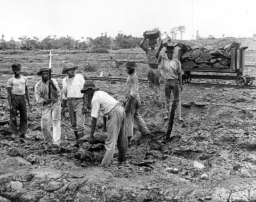
MULTIPOLYGON (((243 75, 244 70, 244 50, 232 49, 230 68, 214 69, 214 68, 182 68, 183 82, 190 82, 191 79, 223 79, 223 80, 236 80, 237 86, 252 86, 255 77, 248 77, 243 75), (212 72, 212 73, 233 73, 236 75, 208 75, 208 74, 191 74, 191 72, 212 72)), ((180 61, 184 50, 179 49, 178 59, 180 61)))

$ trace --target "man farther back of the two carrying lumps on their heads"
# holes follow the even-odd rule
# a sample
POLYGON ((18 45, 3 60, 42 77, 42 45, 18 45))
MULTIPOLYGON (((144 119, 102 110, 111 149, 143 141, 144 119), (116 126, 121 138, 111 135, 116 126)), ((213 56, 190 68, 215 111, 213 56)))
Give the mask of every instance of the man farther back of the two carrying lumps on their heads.
POLYGON ((149 40, 150 49, 148 49, 144 43, 146 38, 140 42, 140 47, 146 52, 147 60, 148 60, 148 87, 150 90, 150 94, 156 98, 159 98, 161 95, 161 86, 160 86, 160 73, 157 64, 157 60, 155 58, 156 53, 156 39, 149 40))

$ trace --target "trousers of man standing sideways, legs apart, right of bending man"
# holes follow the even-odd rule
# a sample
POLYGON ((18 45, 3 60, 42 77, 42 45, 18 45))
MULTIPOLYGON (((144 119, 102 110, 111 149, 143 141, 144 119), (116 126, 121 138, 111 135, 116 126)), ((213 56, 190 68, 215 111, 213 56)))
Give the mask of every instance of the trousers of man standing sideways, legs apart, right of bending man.
POLYGON ((133 136, 133 119, 136 121, 141 134, 149 134, 147 125, 140 115, 141 102, 139 98, 134 98, 129 111, 126 113, 126 133, 127 137, 133 136))

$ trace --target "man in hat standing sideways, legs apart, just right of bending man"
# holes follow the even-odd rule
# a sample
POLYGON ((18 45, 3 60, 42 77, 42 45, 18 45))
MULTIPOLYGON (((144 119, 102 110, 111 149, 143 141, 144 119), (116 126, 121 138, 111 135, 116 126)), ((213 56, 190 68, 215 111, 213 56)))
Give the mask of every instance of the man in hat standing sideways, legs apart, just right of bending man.
POLYGON ((138 77, 135 73, 136 63, 134 61, 127 61, 125 63, 127 74, 129 75, 125 84, 125 98, 127 103, 125 105, 126 113, 126 132, 128 138, 128 146, 131 146, 131 138, 133 136, 133 118, 136 121, 141 134, 150 134, 147 125, 140 116, 140 95, 138 88, 138 77))

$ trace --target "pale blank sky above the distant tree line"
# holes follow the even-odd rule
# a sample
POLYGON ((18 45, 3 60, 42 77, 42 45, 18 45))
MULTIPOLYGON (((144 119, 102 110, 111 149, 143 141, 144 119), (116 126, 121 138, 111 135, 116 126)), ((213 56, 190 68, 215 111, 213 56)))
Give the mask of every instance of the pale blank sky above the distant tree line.
MULTIPOLYGON (((255 0, 0 0, 0 37, 72 36, 101 33, 143 36, 185 26, 184 40, 203 37, 252 37, 256 34, 255 0)), ((83 37, 83 39, 82 39, 83 37)), ((177 35, 177 39, 180 35, 177 35)))

